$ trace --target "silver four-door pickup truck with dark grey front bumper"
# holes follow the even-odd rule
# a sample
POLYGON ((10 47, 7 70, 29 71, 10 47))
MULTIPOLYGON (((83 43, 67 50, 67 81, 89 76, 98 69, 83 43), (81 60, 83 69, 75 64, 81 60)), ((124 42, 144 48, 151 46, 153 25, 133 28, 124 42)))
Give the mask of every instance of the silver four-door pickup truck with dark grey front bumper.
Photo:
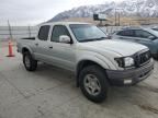
POLYGON ((134 85, 154 70, 146 46, 108 39, 88 23, 43 24, 36 37, 18 39, 18 51, 27 71, 43 61, 74 72, 77 86, 95 103, 105 99, 109 86, 134 85))

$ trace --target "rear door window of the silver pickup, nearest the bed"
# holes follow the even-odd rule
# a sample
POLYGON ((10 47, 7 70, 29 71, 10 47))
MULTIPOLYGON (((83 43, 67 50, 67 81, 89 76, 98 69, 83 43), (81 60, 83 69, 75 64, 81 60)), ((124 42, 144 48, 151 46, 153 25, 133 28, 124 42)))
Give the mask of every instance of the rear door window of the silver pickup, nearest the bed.
POLYGON ((41 39, 41 40, 47 40, 49 28, 50 28, 49 25, 41 26, 40 33, 38 33, 38 39, 41 39))

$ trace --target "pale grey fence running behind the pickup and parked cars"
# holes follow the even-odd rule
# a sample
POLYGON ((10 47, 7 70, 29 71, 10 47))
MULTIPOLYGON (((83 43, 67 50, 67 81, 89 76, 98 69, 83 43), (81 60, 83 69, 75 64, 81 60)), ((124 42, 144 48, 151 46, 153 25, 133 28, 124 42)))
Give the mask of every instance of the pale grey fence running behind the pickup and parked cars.
MULTIPOLYGON (((146 27, 150 27, 147 25, 146 27)), ((156 26, 156 25, 153 25, 156 26)), ((158 25, 157 25, 158 26, 158 25)), ((113 34, 125 26, 102 26, 100 27, 106 34, 113 34)), ((18 39, 22 37, 35 37, 38 26, 0 26, 0 42, 8 39, 18 39)))

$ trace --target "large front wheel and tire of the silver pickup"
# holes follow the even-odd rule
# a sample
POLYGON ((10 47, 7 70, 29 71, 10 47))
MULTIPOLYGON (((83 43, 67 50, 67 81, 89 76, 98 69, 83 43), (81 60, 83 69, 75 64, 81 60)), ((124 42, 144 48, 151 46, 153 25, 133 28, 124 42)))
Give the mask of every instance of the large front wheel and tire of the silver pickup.
POLYGON ((104 70, 99 66, 86 67, 79 74, 79 81, 80 81, 80 90, 88 99, 94 103, 102 103, 106 98, 109 83, 104 70), (94 80, 94 83, 97 84, 98 87, 100 86, 100 91, 95 90, 95 94, 92 94, 93 92, 92 93, 90 92, 92 85, 90 85, 89 84, 90 82, 88 82, 89 80, 88 75, 91 75, 92 80, 94 80))

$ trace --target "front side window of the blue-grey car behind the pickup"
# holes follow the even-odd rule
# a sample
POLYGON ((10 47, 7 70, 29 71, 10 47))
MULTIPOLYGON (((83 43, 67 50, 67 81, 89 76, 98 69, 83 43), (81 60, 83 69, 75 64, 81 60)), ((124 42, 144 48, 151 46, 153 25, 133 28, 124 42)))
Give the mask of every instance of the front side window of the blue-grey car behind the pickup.
POLYGON ((149 36, 154 36, 154 35, 151 35, 150 33, 148 33, 146 31, 136 30, 135 31, 135 36, 140 37, 140 38, 148 38, 149 36))

